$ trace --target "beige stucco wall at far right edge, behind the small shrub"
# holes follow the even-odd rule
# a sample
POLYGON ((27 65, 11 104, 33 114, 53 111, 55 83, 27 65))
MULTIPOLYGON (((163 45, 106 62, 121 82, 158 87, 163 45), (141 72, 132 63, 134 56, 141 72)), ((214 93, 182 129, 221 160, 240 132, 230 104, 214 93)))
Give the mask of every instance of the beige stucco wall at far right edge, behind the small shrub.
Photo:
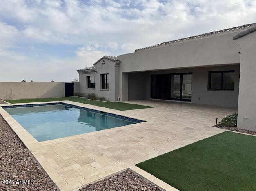
POLYGON ((238 127, 256 131, 256 31, 236 42, 241 48, 238 127))

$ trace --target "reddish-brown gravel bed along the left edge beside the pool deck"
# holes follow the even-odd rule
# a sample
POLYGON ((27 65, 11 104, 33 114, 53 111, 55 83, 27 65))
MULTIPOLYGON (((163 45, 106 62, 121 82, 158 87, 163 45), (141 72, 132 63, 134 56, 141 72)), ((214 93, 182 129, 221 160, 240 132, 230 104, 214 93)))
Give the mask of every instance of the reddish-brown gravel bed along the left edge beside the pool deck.
POLYGON ((1 115, 0 181, 0 190, 58 190, 1 115))

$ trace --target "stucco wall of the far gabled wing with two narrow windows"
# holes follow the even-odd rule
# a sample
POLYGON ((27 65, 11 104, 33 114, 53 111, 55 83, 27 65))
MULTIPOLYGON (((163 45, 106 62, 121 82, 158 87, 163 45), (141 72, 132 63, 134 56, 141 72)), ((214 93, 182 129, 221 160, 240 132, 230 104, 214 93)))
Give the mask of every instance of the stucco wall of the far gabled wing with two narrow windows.
POLYGON ((95 64, 95 71, 93 72, 80 72, 79 81, 80 81, 80 93, 95 93, 97 96, 104 97, 106 100, 114 101, 117 100, 118 94, 118 76, 115 76, 115 72, 118 73, 119 66, 115 66, 116 62, 111 60, 102 59, 100 62, 95 64), (105 61, 105 64, 103 63, 105 61), (102 89, 102 80, 101 74, 109 74, 109 89, 102 89), (88 88, 87 76, 95 76, 95 89, 88 88), (117 86, 117 87, 116 87, 117 86))

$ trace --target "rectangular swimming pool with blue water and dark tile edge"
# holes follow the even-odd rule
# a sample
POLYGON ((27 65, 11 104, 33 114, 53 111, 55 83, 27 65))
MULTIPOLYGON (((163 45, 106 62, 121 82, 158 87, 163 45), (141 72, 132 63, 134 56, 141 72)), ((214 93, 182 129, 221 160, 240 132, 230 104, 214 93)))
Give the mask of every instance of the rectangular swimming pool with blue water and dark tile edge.
POLYGON ((38 142, 144 122, 66 103, 2 108, 38 142))

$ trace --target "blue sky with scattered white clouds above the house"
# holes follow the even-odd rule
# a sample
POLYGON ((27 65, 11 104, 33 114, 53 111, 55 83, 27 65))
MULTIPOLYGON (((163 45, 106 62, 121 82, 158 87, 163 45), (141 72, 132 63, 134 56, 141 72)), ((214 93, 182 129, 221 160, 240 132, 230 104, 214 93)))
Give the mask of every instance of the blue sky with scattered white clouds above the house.
POLYGON ((70 82, 104 55, 256 22, 256 0, 0 0, 0 81, 70 82))

